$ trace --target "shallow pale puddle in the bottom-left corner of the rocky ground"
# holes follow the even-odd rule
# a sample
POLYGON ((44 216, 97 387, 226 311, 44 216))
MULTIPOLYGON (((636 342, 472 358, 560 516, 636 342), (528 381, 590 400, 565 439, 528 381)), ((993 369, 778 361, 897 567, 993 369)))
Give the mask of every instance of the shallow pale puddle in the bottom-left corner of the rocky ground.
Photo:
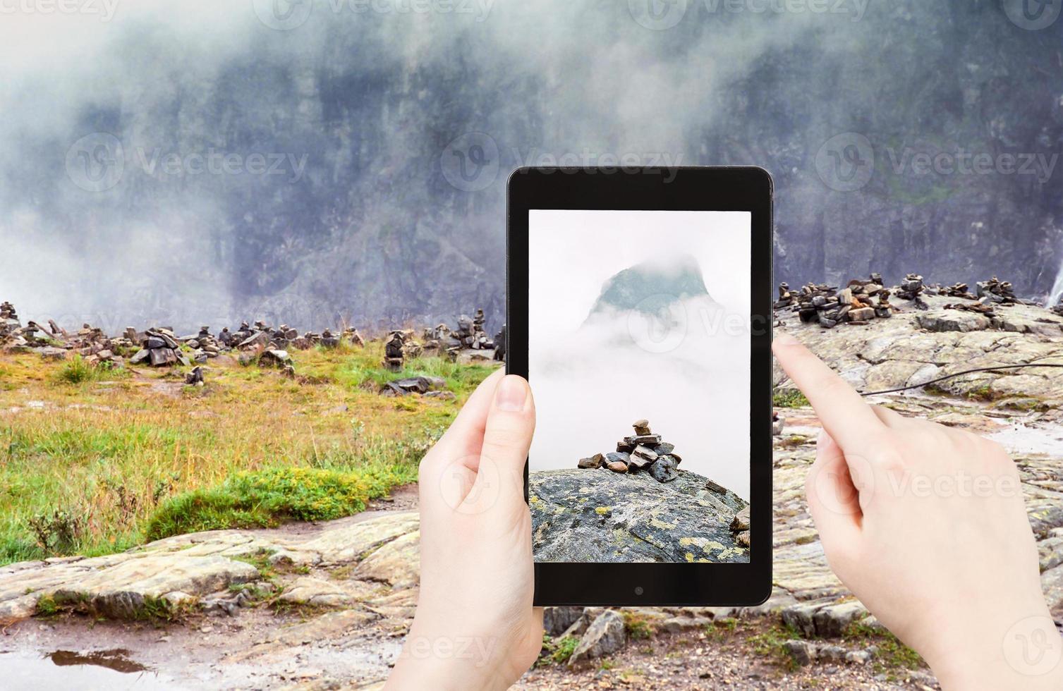
POLYGON ((173 689, 172 679, 126 657, 129 651, 16 652, 0 655, 4 689, 142 691, 173 689))

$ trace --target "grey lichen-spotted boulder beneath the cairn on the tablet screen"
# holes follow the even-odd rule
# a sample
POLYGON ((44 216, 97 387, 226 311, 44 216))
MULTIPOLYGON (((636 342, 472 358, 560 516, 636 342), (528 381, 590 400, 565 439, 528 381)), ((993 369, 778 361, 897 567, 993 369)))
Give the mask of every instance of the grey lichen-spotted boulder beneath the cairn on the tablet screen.
POLYGON ((528 502, 536 559, 748 561, 748 549, 730 527, 747 503, 696 473, 676 473, 667 484, 647 473, 532 473, 528 502))

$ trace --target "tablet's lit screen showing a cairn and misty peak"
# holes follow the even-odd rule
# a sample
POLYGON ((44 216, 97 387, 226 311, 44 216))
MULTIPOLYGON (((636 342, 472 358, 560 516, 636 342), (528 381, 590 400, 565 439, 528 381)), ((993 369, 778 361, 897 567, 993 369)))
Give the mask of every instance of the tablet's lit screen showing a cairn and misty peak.
POLYGON ((536 561, 749 561, 750 224, 529 212, 536 561))

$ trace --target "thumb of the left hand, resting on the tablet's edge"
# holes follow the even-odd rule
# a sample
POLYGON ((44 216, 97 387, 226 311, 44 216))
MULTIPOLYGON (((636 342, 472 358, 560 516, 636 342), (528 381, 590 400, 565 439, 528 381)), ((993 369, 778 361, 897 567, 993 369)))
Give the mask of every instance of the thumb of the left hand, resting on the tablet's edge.
POLYGON ((506 375, 494 391, 484 426, 476 482, 467 501, 477 501, 496 491, 501 499, 513 495, 524 501, 524 464, 535 432, 535 401, 523 377, 506 375), (497 482, 496 488, 486 485, 497 482), (493 491, 492 491, 493 490, 493 491))

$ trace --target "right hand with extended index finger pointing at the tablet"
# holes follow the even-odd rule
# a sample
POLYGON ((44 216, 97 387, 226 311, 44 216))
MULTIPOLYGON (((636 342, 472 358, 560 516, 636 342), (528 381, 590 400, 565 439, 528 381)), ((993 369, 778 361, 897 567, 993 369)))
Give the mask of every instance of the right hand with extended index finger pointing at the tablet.
POLYGON ((945 688, 1063 689, 1063 643, 1003 449, 867 405, 790 335, 773 351, 823 423, 806 492, 842 583, 945 688))

